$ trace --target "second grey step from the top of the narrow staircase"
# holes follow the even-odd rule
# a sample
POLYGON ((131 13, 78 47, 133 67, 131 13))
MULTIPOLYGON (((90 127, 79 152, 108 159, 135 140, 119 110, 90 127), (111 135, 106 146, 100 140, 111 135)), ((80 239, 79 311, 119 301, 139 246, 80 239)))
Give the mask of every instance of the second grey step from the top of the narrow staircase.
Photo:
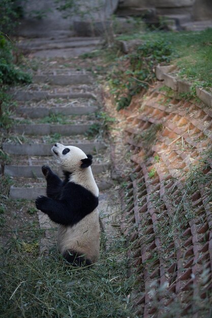
POLYGON ((96 96, 90 92, 65 92, 65 93, 50 93, 48 91, 25 91, 17 90, 13 92, 13 98, 16 101, 41 101, 49 99, 78 99, 78 98, 92 98, 96 96))

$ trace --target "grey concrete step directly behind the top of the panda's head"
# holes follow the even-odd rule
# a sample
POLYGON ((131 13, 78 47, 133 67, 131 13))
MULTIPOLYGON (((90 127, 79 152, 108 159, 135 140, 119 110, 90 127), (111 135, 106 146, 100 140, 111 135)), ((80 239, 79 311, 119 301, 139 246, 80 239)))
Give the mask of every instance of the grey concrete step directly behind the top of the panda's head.
MULTIPOLYGON (((85 153, 96 153, 106 148, 106 144, 103 142, 78 142, 71 143, 72 146, 79 147, 85 153)), ((33 156, 48 156, 51 153, 52 144, 12 144, 4 143, 3 150, 8 154, 14 155, 33 155, 33 156)))

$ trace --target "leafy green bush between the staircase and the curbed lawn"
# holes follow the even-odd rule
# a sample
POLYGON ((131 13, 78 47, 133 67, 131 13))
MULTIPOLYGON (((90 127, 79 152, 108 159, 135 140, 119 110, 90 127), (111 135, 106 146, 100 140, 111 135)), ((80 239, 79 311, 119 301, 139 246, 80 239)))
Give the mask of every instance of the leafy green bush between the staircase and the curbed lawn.
POLYGON ((155 79, 154 67, 158 63, 169 62, 171 54, 168 42, 146 40, 134 52, 119 58, 109 75, 117 110, 129 106, 135 94, 148 88, 155 79))

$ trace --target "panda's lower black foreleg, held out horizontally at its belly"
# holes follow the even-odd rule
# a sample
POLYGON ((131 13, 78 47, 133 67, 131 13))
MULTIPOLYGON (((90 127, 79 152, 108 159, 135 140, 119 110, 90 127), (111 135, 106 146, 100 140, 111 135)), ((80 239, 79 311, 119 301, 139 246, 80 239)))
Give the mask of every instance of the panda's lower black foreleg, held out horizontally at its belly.
POLYGON ((50 219, 57 224, 72 224, 73 216, 69 207, 63 201, 40 196, 36 199, 36 207, 38 210, 48 214, 50 219))

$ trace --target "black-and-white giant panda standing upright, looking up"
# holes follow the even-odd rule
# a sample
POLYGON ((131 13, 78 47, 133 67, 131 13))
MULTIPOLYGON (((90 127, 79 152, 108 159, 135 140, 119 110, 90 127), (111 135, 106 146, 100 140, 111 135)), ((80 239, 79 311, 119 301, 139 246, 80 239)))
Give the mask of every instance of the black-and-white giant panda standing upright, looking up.
POLYGON ((97 262, 100 249, 99 189, 92 169, 92 155, 75 146, 56 143, 52 153, 62 168, 62 181, 48 166, 42 166, 47 196, 36 207, 58 224, 57 244, 73 266, 97 262))

